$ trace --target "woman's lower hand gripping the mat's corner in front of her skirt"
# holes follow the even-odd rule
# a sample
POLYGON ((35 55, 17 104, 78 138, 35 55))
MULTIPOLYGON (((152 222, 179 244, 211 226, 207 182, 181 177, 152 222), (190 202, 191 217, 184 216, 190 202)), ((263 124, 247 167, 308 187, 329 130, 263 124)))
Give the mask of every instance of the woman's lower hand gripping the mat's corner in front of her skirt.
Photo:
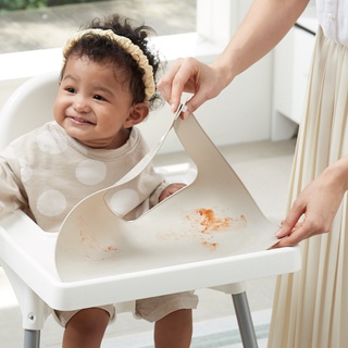
MULTIPOLYGON (((338 162, 337 162, 338 163, 338 162)), ((347 190, 347 170, 341 165, 327 167, 295 200, 282 222, 276 247, 295 246, 314 235, 328 233, 343 196, 347 190)))

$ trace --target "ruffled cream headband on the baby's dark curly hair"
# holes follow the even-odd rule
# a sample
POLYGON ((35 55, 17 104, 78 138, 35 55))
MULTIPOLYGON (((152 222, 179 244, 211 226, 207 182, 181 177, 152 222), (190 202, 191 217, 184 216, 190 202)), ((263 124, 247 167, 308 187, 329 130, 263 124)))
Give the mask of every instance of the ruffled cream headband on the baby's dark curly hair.
POLYGON ((63 57, 64 61, 66 60, 71 49, 73 46, 80 40, 80 38, 85 34, 97 34, 99 36, 108 36, 110 39, 119 44, 125 51, 127 51, 135 61, 137 61, 138 65, 144 70, 145 74, 142 76, 142 83, 145 85, 145 99, 150 100, 154 95, 154 80, 153 80, 153 70, 149 64, 149 60, 144 54, 141 49, 134 45, 130 39, 124 36, 119 36, 113 33, 111 29, 85 29, 73 35, 65 44, 63 48, 63 57))

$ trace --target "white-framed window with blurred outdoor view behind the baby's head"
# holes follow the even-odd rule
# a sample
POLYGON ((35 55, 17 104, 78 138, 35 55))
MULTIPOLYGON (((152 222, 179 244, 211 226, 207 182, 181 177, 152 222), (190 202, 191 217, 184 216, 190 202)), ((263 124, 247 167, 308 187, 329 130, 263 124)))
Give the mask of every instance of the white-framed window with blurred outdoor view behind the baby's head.
MULTIPOLYGON (((70 4, 0 11, 0 83, 13 80, 11 86, 3 85, 7 94, 15 80, 60 66, 61 48, 67 37, 95 17, 121 13, 152 26, 158 35, 153 42, 170 64, 177 57, 212 60, 227 44, 239 8, 235 0, 15 1, 70 4)), ((13 0, 0 0, 0 4, 4 2, 13 0)))

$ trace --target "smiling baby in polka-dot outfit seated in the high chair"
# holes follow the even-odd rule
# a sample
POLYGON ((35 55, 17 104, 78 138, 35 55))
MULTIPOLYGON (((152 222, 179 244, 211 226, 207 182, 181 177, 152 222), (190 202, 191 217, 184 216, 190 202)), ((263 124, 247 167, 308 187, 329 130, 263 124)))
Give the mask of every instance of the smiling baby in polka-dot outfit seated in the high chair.
MULTIPOLYGON (((22 209, 42 229, 58 232, 76 203, 117 182, 142 159, 148 149, 135 126, 160 98, 160 60, 149 47, 150 33, 150 27, 113 15, 95 20, 67 40, 54 121, 20 137, 0 154, 1 214, 22 209)), ((113 204, 113 210, 136 219, 183 186, 166 185, 149 165, 134 181, 136 197, 113 204)), ((190 345, 197 301, 191 291, 142 299, 136 301, 136 314, 156 322, 156 347, 185 348, 190 345)), ((95 348, 115 308, 54 315, 65 327, 64 348, 95 348)))

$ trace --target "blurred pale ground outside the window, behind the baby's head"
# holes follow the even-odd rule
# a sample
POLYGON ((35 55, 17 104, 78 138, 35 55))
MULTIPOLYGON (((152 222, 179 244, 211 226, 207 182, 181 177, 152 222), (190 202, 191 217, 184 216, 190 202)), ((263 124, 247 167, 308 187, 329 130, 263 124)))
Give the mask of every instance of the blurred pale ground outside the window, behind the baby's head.
POLYGON ((61 47, 71 32, 112 13, 144 22, 161 36, 196 30, 196 0, 112 0, 0 12, 0 54, 61 47))

